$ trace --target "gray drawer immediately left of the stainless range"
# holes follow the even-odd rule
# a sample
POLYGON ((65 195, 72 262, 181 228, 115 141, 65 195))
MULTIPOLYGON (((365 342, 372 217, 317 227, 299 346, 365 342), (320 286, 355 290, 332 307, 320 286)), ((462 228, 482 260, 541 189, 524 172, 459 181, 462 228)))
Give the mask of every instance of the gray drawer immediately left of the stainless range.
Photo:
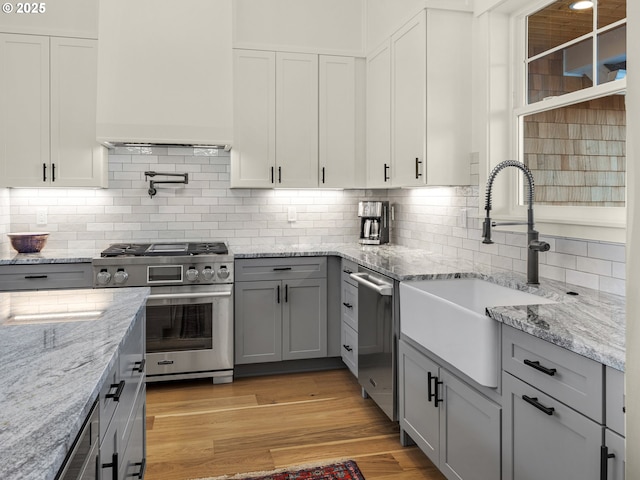
POLYGON ((91 288, 90 263, 54 263, 3 265, 0 267, 0 291, 91 288))

